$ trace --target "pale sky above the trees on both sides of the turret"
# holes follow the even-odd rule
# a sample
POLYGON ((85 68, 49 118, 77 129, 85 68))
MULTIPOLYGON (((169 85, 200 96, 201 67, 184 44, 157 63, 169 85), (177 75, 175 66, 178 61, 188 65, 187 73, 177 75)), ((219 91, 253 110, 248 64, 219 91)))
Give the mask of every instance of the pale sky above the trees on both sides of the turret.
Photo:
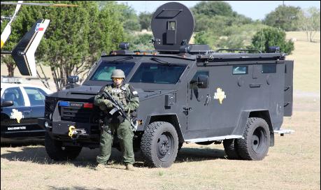
MULTIPOLYGON (((136 10, 136 13, 150 12, 153 13, 159 6, 164 3, 173 1, 117 1, 127 3, 136 10)), ((183 3, 188 8, 195 6, 200 1, 175 1, 183 3)), ((283 2, 286 6, 299 6, 302 9, 312 6, 320 8, 320 1, 226 1, 232 9, 238 14, 252 18, 252 20, 263 20, 265 15, 271 13, 283 2)))

